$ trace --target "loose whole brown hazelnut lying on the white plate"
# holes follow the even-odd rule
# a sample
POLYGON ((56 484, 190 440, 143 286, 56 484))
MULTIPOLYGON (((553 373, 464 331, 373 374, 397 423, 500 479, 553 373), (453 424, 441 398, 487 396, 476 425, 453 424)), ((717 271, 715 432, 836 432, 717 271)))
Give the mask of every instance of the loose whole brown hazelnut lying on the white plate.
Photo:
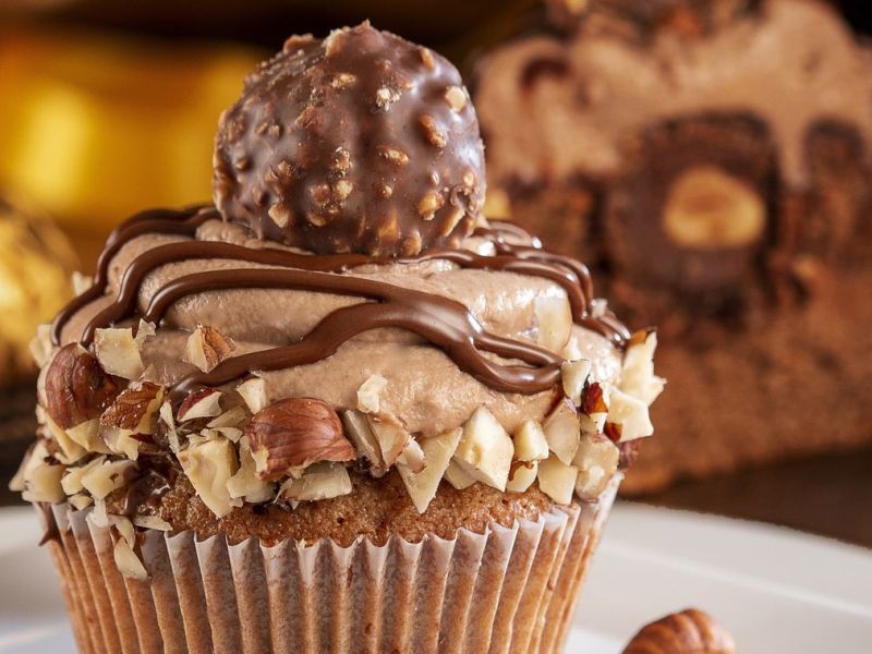
POLYGON ((735 654, 732 635, 710 615, 688 608, 645 625, 623 654, 735 654))

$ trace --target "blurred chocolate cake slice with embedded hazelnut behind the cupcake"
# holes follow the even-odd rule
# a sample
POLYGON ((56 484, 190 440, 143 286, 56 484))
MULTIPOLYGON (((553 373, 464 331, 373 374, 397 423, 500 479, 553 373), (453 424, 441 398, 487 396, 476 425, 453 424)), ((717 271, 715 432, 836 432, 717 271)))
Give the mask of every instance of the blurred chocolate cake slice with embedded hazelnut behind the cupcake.
POLYGON ((625 489, 872 440, 872 56, 806 0, 555 0, 486 53, 492 213, 658 324, 625 489))

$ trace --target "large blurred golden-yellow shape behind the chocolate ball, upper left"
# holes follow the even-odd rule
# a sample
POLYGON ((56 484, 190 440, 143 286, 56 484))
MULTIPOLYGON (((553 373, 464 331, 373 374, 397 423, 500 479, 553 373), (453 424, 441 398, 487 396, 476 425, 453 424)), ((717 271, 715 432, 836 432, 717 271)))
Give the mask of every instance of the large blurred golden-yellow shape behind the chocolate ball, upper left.
POLYGON ((74 232, 210 196, 220 111, 258 61, 235 46, 0 35, 0 185, 74 232))

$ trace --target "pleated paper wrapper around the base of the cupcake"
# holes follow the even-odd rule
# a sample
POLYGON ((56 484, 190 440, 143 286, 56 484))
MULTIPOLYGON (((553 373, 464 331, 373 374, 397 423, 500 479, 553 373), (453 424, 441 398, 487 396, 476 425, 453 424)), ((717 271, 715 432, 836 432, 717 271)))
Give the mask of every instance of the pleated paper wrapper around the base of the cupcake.
POLYGON ((450 541, 267 547, 149 531, 147 581, 122 577, 88 509, 53 506, 49 547, 81 652, 559 652, 619 483, 450 541))

